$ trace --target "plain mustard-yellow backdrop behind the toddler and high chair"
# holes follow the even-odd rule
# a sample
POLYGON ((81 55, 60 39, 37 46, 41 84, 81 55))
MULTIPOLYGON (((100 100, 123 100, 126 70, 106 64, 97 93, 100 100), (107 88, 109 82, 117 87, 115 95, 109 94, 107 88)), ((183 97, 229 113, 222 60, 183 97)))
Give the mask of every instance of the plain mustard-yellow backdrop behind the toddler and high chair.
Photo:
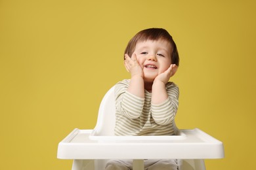
POLYGON ((93 129, 104 93, 129 78, 123 50, 141 29, 173 35, 177 126, 223 141, 207 170, 255 169, 255 1, 0 0, 0 169, 71 169, 58 143, 93 129))

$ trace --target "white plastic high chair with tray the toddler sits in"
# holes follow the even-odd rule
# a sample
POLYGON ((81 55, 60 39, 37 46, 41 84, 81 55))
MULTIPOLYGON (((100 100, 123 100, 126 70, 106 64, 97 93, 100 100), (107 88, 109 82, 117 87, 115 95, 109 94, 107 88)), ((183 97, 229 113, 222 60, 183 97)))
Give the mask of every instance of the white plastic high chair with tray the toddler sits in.
POLYGON ((74 129, 58 144, 57 158, 74 160, 72 170, 102 170, 109 159, 182 159, 182 170, 205 170, 204 159, 224 158, 223 143, 200 129, 176 129, 173 136, 114 136, 114 86, 100 103, 95 129, 74 129))

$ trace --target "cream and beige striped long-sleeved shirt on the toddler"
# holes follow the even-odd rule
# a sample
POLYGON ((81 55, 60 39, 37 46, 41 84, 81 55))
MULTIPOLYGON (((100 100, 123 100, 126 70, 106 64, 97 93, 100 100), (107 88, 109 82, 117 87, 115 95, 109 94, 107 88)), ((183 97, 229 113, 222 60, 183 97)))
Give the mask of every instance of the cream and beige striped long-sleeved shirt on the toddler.
POLYGON ((167 82, 168 98, 158 105, 151 103, 152 93, 145 90, 144 98, 127 92, 130 80, 115 87, 115 135, 174 135, 173 121, 179 105, 179 88, 167 82))

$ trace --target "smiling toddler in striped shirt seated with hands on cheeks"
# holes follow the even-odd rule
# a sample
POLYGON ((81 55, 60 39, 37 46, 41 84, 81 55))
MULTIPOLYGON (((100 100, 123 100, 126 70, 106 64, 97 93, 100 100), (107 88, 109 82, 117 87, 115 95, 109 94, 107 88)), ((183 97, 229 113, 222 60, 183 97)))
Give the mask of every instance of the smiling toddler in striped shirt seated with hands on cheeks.
MULTIPOLYGON (((171 35, 162 28, 140 31, 127 44, 124 65, 131 78, 116 84, 115 135, 175 135, 179 88, 169 79, 177 72, 179 54, 171 35)), ((144 168, 177 170, 179 161, 144 160, 144 168)), ((132 166, 132 160, 110 160, 106 169, 132 166)))

